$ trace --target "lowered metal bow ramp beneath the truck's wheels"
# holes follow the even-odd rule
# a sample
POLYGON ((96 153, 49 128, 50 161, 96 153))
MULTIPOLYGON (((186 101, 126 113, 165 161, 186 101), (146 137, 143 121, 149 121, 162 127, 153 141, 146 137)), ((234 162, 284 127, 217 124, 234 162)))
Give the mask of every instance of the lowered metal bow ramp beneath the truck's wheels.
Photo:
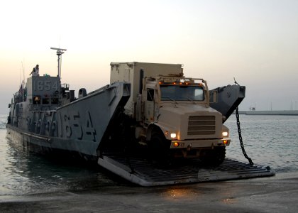
POLYGON ((236 180, 275 175, 269 167, 250 165, 226 158, 216 167, 198 160, 173 163, 167 168, 158 168, 142 158, 125 158, 121 155, 104 155, 99 165, 112 173, 141 186, 176 185, 190 182, 236 180))

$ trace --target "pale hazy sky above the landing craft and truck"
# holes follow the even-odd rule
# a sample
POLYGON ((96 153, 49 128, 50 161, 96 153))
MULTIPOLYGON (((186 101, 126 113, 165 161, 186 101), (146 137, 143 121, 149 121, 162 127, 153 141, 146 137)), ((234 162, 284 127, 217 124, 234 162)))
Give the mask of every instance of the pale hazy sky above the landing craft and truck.
POLYGON ((110 62, 184 65, 209 89, 246 87, 241 110, 298 110, 298 1, 1 2, 0 114, 33 67, 87 92, 109 84, 110 62))

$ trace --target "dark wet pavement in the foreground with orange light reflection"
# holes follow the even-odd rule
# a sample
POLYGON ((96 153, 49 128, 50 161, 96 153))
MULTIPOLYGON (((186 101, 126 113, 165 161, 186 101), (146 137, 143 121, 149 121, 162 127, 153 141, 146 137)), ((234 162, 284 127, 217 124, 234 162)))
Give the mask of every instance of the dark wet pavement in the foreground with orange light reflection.
POLYGON ((1 196, 0 212, 297 212, 298 173, 190 185, 106 187, 1 196))

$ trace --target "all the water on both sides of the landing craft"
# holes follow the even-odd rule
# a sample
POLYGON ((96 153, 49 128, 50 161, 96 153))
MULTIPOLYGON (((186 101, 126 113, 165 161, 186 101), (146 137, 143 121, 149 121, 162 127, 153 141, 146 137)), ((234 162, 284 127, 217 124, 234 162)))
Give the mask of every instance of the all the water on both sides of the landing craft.
MULTIPOLYGON (((276 173, 298 171, 298 116, 241 115, 240 119, 245 151, 255 164, 269 165, 276 173)), ((6 115, 0 115, 0 196, 129 185, 99 166, 48 159, 14 146, 6 139, 5 125, 6 115)), ((227 157, 247 162, 235 115, 226 126, 232 139, 227 157)))

